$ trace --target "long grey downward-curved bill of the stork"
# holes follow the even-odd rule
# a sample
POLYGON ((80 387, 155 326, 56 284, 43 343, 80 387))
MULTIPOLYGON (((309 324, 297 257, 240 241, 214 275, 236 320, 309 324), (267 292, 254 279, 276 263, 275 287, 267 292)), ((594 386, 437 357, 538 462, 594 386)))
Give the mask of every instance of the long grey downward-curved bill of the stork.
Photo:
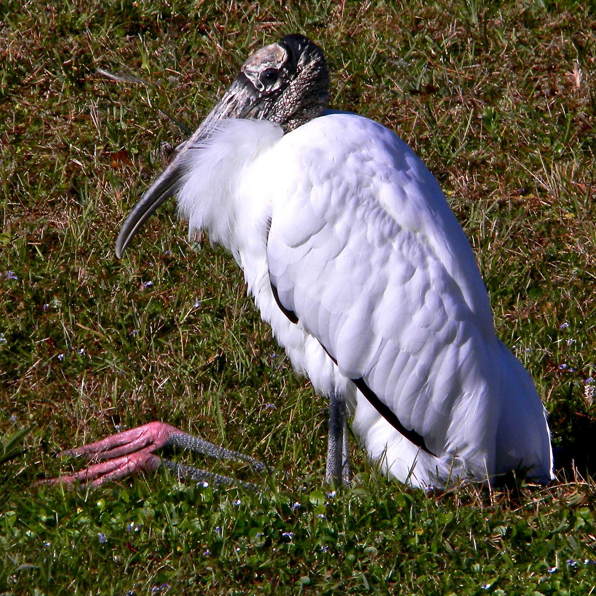
POLYGON ((197 147, 209 138, 220 120, 253 116, 253 108, 256 107, 260 99, 250 80, 243 73, 240 73, 193 136, 188 141, 178 145, 172 161, 157 176, 157 179, 136 203, 128 218, 125 219, 116 240, 116 256, 119 259, 136 232, 142 228, 142 225, 150 218, 157 207, 180 190, 188 172, 184 160, 185 153, 191 147, 197 147))

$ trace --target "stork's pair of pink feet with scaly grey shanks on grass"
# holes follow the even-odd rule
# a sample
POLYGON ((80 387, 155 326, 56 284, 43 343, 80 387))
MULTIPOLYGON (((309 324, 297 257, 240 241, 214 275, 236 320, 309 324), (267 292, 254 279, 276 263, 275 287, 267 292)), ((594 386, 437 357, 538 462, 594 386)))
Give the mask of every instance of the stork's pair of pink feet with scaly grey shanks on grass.
MULTIPOLYGON (((70 485, 78 480, 83 483, 91 482, 92 486, 99 486, 108 480, 121 480, 138 472, 155 471, 160 465, 164 465, 180 478, 202 482, 211 480, 214 483, 225 485, 237 484, 228 476, 199 470, 190 465, 176 464, 154 454, 157 449, 168 445, 198 451, 219 460, 245 461, 255 470, 265 468, 262 462, 254 460, 252 457, 213 445, 206 440, 182 432, 170 424, 152 422, 113 434, 95 443, 89 443, 89 445, 61 452, 60 455, 85 455, 95 463, 75 474, 64 474, 58 478, 41 480, 39 483, 70 485)), ((254 487, 250 483, 246 483, 244 486, 254 487)))

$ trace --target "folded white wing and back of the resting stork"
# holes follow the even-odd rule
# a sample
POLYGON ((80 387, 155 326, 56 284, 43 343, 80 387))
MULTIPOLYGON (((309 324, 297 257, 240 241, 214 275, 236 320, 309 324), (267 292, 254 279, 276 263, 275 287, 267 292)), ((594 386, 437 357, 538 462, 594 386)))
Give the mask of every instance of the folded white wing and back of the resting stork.
MULTIPOLYGON (((501 370, 488 295, 436 179, 396 135, 353 114, 313 120, 274 154, 267 262, 284 308, 430 451, 490 473, 513 368, 501 370)), ((529 380, 535 417, 532 381, 514 371, 529 380)))

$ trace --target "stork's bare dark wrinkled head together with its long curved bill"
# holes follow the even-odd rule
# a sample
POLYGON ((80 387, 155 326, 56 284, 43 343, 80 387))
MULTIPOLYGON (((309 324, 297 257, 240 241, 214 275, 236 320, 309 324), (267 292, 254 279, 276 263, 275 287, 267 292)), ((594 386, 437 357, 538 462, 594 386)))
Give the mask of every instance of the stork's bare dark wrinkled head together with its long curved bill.
POLYGON ((323 52, 302 35, 287 35, 278 44, 251 54, 224 97, 188 141, 179 145, 166 169, 136 203, 116 240, 122 253, 153 212, 180 188, 185 153, 209 138, 224 118, 255 118, 275 122, 284 133, 320 116, 329 98, 329 72, 323 52))

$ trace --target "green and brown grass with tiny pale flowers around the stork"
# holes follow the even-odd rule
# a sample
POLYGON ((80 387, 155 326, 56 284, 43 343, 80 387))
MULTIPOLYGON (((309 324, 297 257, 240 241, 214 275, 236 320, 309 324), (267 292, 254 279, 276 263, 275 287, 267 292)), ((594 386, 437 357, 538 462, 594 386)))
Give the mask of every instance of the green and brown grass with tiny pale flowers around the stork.
POLYGON ((0 594, 595 593, 585 468, 516 498, 425 494, 353 445, 361 482, 327 496, 325 401, 231 258, 188 241, 173 204, 114 258, 176 121, 194 129, 251 51, 306 33, 333 107, 394 129, 439 179, 555 445, 593 451, 591 3, 220 4, 2 1, 0 594), (59 449, 156 419, 274 470, 257 493, 166 473, 33 487, 79 465, 59 449))

